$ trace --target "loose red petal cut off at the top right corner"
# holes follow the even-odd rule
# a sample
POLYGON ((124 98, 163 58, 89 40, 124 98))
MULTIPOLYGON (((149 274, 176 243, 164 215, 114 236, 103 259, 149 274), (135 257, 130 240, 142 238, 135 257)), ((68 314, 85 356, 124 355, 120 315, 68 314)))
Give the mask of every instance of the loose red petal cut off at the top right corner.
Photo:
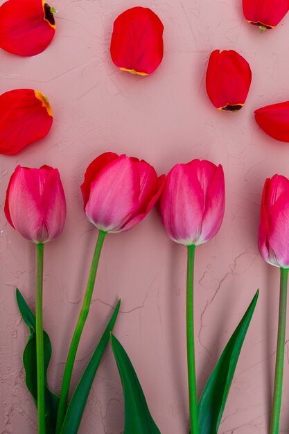
POLYGON ((243 0, 243 12, 250 24, 273 28, 289 10, 289 0, 243 0))

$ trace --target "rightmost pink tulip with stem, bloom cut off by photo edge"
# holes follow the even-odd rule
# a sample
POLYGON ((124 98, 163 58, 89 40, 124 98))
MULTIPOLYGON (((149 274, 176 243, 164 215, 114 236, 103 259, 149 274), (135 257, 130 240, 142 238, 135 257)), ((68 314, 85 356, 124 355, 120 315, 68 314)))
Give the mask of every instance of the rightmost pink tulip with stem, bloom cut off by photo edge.
POLYGON ((280 268, 278 337, 270 422, 270 434, 277 434, 282 400, 289 271, 289 180, 285 176, 274 175, 265 180, 259 225, 259 250, 266 262, 280 268))

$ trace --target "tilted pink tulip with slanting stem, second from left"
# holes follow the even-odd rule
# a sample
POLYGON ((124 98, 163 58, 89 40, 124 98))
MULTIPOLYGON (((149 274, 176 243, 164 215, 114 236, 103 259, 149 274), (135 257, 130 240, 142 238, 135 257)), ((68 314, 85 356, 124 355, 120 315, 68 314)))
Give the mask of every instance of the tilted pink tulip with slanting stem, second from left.
POLYGON ((164 175, 157 177, 155 169, 143 160, 139 161, 137 158, 114 153, 99 155, 89 164, 85 172, 85 181, 81 186, 85 214, 99 232, 85 298, 71 339, 64 370, 56 434, 62 433, 62 426, 65 424, 73 364, 89 313, 105 237, 108 232, 127 231, 143 220, 159 198, 164 180, 164 175))

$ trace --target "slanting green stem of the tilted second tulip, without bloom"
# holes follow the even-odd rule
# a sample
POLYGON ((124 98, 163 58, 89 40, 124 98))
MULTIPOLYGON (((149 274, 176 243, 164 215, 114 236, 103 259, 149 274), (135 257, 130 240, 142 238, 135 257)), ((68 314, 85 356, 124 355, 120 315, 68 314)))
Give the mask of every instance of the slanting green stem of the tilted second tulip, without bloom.
POLYGON ((100 252, 103 247, 103 241, 105 240, 105 235, 107 232, 99 231, 98 238, 96 241, 96 248, 94 250, 94 257, 92 258, 91 268, 89 272, 89 279, 87 282, 87 289, 85 292, 85 298, 82 303, 82 308, 80 311, 80 315, 78 318, 78 322, 76 324, 76 329, 73 333, 73 337, 71 340, 69 354, 67 356, 67 364, 65 366, 63 380, 62 380, 62 388, 60 394, 60 401, 58 406, 58 419, 56 423, 56 431, 55 434, 60 434, 62 429, 62 424, 64 422, 64 417, 67 412, 67 401, 69 397, 69 388, 71 383, 71 376, 73 371, 74 361, 76 359, 76 352, 78 349, 78 344, 80 341, 80 337, 82 334, 82 330, 85 327, 85 322, 87 320, 87 315, 89 313, 89 307, 91 304, 92 293, 94 292, 94 284, 96 281, 96 272, 98 268, 98 262, 100 258, 100 252))

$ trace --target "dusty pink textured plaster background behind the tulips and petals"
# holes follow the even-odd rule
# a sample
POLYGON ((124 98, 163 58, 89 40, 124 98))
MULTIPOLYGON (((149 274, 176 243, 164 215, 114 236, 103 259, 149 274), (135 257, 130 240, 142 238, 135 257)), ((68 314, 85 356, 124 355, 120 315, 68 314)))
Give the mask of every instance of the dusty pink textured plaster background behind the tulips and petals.
MULTIPOLYGON (((55 0, 53 6, 57 33, 44 53, 20 58, 0 52, 1 93, 38 89, 55 115, 46 139, 0 160, 0 433, 37 432, 21 363, 27 330, 15 302, 18 286, 34 303, 35 250, 4 217, 9 177, 17 164, 51 164, 60 169, 67 195, 67 224, 46 246, 44 270, 44 327, 53 343, 49 382, 59 391, 96 240, 79 186, 89 162, 106 150, 142 157, 158 173, 195 157, 224 166, 224 223, 196 254, 198 390, 260 287, 219 433, 268 433, 279 273, 263 262, 256 240, 263 182, 274 173, 289 175, 289 148, 259 130, 253 111, 288 99, 289 17, 261 34, 246 23, 240 0, 55 0), (164 61, 146 78, 119 71, 110 59, 114 18, 136 4, 155 10, 165 26, 164 61), (238 114, 219 112, 207 98, 204 75, 213 49, 235 49, 251 64, 252 87, 238 114)), ((73 379, 76 385, 121 297, 115 333, 164 434, 188 432, 185 270, 186 249, 168 240, 156 210, 132 231, 107 236, 73 379)), ((281 433, 289 433, 288 351, 286 344, 281 433)), ((121 383, 108 349, 80 434, 122 431, 121 383)))

